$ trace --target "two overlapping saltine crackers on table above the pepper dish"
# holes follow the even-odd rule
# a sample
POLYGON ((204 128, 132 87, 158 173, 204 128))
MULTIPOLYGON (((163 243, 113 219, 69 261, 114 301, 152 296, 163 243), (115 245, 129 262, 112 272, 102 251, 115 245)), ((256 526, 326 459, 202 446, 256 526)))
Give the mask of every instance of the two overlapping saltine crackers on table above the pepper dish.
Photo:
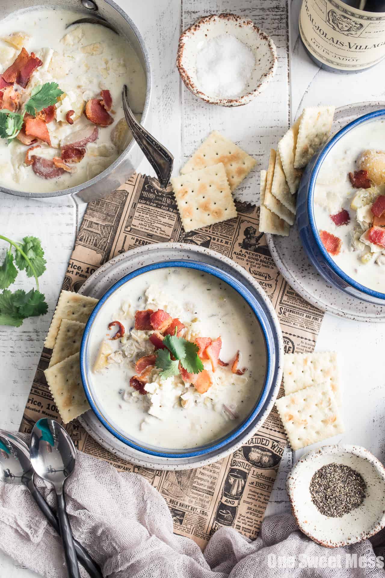
POLYGON ((336 353, 285 355, 283 387, 275 405, 293 450, 343 433, 336 353))

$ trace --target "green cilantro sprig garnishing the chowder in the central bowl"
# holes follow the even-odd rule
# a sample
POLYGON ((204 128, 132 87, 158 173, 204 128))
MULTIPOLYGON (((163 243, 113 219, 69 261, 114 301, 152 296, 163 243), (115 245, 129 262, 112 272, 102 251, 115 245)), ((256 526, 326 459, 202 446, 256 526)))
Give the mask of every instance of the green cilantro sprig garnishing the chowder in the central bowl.
POLYGON ((157 349, 155 361, 155 366, 158 369, 162 369, 160 372, 162 379, 178 375, 179 362, 182 368, 189 373, 200 373, 203 371, 203 363, 198 357, 199 347, 196 343, 178 337, 177 328, 175 328, 175 335, 165 336, 163 345, 165 345, 167 349, 157 349), (175 361, 171 360, 170 354, 175 357, 175 361))

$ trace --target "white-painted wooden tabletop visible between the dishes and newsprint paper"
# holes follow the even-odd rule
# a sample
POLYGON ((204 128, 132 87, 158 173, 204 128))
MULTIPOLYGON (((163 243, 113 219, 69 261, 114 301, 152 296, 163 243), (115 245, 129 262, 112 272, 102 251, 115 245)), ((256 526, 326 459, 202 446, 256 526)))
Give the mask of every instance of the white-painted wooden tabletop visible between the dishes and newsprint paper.
MULTIPOLYGON (((223 131, 257 160, 256 172, 240 187, 240 198, 256 202, 257 171, 266 168, 268 152, 304 106, 385 100, 384 64, 360 75, 334 75, 313 64, 298 38, 300 0, 115 0, 133 18, 148 46, 154 73, 152 132, 175 157, 175 172, 211 129, 223 131), (251 17, 270 34, 279 65, 267 90, 239 109, 206 105, 191 95, 175 68, 178 37, 203 15, 232 12, 251 17)), ((152 174, 143 161, 141 172, 152 174)), ((44 317, 24 321, 18 328, 0 327, 0 428, 17 431, 55 303, 85 205, 72 198, 33 201, 0 193, 0 234, 20 240, 39 236, 46 251, 47 271, 40 278, 50 307, 44 317)), ((0 260, 3 257, 0 249, 0 260)), ((31 284, 19 275, 20 287, 31 284)), ((383 343, 385 325, 361 324, 326 315, 318 350, 341 353, 346 433, 342 443, 367 447, 383 462, 383 343), (362 362, 360 361, 362 360, 362 362), (376 369, 376 367, 378 369, 376 369)), ((300 457, 286 451, 268 505, 268 514, 289 510, 285 479, 300 457)), ((36 576, 0 552, 0 576, 36 576)))

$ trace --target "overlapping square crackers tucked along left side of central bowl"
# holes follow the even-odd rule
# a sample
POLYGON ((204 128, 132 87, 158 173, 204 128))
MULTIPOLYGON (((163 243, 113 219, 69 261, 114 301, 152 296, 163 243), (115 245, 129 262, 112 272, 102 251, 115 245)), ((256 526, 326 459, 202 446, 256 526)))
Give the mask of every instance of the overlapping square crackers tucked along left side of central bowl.
POLYGON ((96 303, 98 299, 62 291, 44 343, 53 350, 44 375, 65 424, 89 409, 80 378, 79 351, 85 324, 96 303))

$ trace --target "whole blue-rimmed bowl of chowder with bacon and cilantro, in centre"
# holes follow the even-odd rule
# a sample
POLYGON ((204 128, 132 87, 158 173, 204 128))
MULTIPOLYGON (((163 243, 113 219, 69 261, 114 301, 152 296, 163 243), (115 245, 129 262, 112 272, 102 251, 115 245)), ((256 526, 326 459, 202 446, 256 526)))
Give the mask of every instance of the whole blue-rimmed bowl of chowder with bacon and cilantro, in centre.
POLYGON ((259 299, 216 266, 143 266, 103 295, 85 327, 89 405, 148 459, 218 460, 255 431, 276 397, 276 331, 259 299))

